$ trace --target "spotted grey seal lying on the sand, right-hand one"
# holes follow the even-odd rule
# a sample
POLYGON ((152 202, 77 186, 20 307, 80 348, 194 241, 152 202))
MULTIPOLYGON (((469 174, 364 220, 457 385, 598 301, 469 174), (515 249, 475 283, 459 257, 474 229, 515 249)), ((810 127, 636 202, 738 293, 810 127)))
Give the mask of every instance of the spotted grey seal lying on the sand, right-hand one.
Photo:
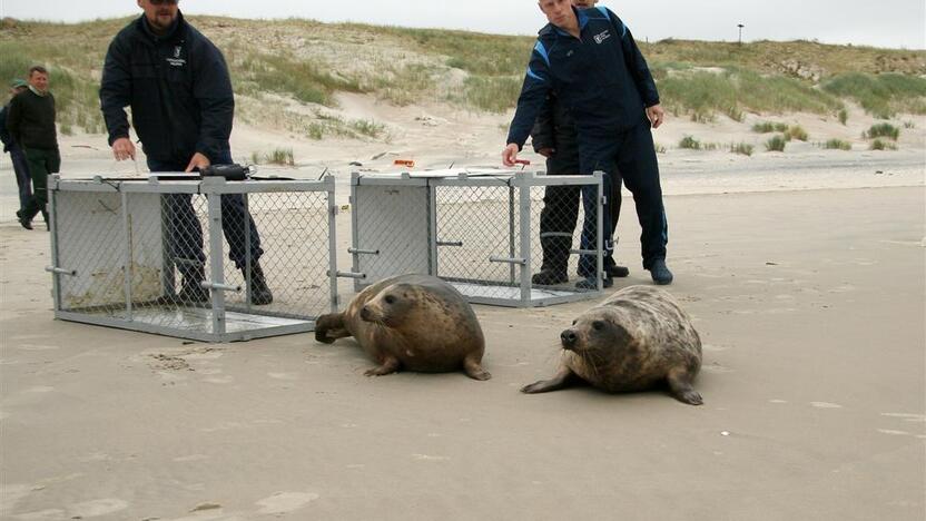
POLYGON ((551 380, 524 386, 544 393, 585 381, 611 393, 669 384, 681 402, 701 405, 692 383, 701 368, 701 338, 672 296, 630 286, 579 316, 560 335, 563 357, 551 380))

